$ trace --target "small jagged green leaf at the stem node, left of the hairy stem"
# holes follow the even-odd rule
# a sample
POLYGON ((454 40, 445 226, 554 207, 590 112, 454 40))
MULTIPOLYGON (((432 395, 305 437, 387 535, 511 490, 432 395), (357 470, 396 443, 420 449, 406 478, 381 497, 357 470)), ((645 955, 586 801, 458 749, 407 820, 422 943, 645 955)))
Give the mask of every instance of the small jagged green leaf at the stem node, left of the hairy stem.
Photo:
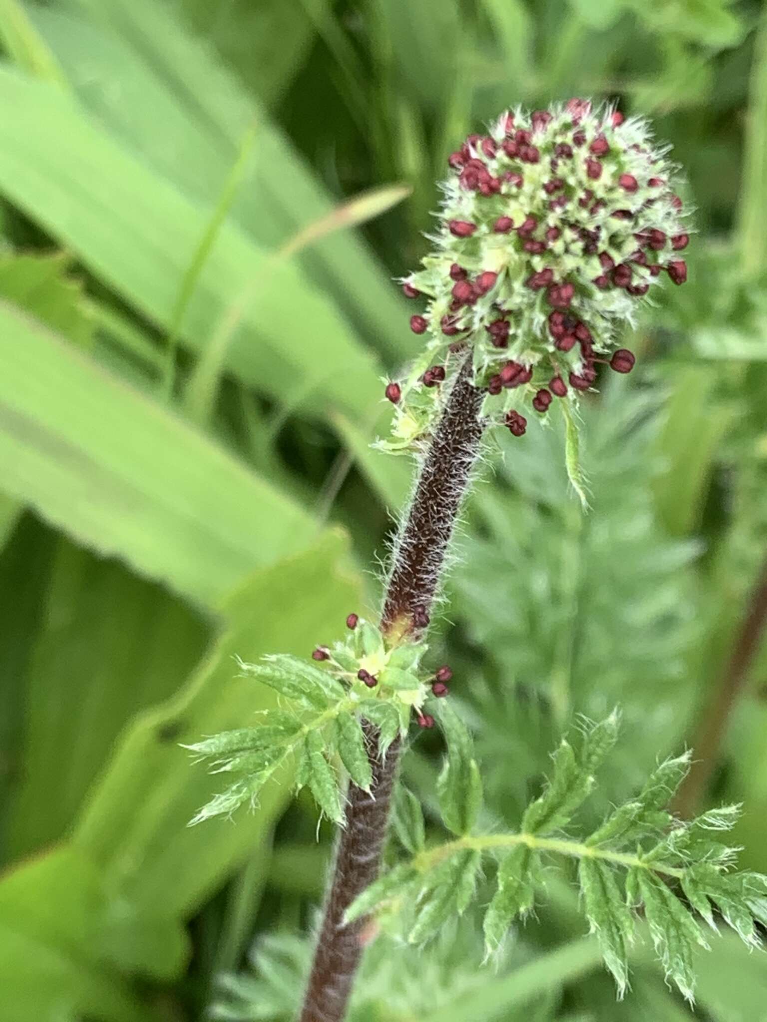
POLYGON ((296 790, 309 788, 320 810, 343 826, 339 761, 355 784, 369 790, 372 770, 362 719, 375 726, 384 754, 407 732, 413 707, 428 693, 419 673, 425 650, 423 643, 388 646, 378 629, 360 619, 346 642, 322 649, 322 667, 284 654, 261 663, 238 661, 241 675, 272 688, 281 706, 261 712, 255 727, 184 746, 209 760, 213 773, 236 776, 190 825, 231 816, 242 804, 255 806, 264 785, 292 762, 296 790))

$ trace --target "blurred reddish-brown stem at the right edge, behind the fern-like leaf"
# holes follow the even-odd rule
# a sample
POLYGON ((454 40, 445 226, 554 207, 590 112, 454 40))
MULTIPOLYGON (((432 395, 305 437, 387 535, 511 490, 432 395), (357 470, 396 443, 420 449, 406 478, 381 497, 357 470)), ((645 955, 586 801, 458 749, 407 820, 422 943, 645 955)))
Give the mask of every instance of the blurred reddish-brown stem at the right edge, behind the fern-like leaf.
POLYGON ((746 615, 737 631, 735 644, 724 671, 701 716, 692 743, 695 759, 674 800, 674 810, 682 818, 689 818, 695 814, 706 792, 727 731, 730 713, 746 684, 765 625, 767 625, 767 559, 762 564, 759 577, 752 590, 746 615))

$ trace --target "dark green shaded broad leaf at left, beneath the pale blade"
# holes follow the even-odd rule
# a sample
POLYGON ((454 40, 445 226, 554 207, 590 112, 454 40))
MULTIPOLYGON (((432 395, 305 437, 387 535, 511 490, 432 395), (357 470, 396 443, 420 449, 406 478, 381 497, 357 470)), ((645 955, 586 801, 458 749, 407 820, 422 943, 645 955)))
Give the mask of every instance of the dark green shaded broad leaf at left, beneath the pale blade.
POLYGON ((166 589, 64 538, 41 611, 26 676, 25 769, 8 806, 13 857, 67 832, 126 722, 171 696, 210 638, 166 589))

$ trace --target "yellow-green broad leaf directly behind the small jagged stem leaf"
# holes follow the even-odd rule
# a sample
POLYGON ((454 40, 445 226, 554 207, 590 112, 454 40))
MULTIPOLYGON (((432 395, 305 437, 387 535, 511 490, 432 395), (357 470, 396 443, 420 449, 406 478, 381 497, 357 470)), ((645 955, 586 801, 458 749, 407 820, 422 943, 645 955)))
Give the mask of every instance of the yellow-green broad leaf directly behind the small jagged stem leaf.
POLYGON ((304 654, 314 637, 327 635, 346 608, 360 601, 346 558, 346 544, 329 533, 301 556, 254 574, 226 601, 228 626, 185 688, 140 714, 123 736, 86 803, 75 841, 112 888, 138 907, 162 904, 171 917, 191 914, 268 837, 289 795, 288 778, 264 788, 258 812, 188 828, 220 790, 221 778, 190 763, 180 743, 241 727, 257 719, 258 710, 275 707, 268 688, 235 677, 234 654, 304 654))

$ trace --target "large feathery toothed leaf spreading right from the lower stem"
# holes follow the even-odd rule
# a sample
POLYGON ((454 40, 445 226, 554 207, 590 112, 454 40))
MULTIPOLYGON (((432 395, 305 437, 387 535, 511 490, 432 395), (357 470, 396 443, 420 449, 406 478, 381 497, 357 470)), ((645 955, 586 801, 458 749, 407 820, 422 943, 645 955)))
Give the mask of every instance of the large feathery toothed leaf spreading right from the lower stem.
POLYGON ((629 981, 629 947, 638 914, 649 927, 666 976, 692 998, 695 945, 708 946, 703 923, 716 930, 721 918, 748 944, 758 943, 756 923, 767 925, 767 877, 736 872, 734 850, 719 839, 737 818, 737 807, 674 820, 667 805, 685 776, 685 753, 661 762, 638 794, 612 808, 583 832, 577 815, 596 785, 596 773, 615 744, 619 715, 584 722, 577 743, 563 740, 539 798, 525 810, 518 831, 476 831, 482 791, 471 741, 451 707, 441 708, 448 757, 440 783, 440 808, 454 839, 423 844, 422 822, 412 801, 398 833, 409 858, 397 863, 351 905, 348 920, 375 913, 388 928, 421 944, 475 899, 479 877, 495 865, 495 893, 485 914, 489 955, 503 945, 513 921, 528 915, 543 887, 547 862, 575 861, 582 905, 597 935, 606 967, 622 995, 629 981))

